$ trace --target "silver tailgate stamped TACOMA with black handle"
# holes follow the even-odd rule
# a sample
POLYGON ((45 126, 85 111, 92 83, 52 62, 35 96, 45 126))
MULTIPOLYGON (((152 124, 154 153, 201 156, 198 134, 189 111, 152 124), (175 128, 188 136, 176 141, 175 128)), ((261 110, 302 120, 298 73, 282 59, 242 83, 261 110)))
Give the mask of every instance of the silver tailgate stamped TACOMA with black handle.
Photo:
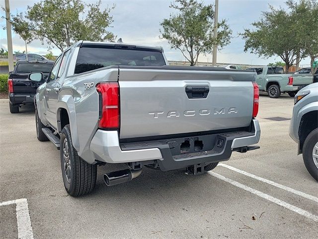
POLYGON ((119 67, 120 138, 248 126, 256 75, 201 69, 119 67))

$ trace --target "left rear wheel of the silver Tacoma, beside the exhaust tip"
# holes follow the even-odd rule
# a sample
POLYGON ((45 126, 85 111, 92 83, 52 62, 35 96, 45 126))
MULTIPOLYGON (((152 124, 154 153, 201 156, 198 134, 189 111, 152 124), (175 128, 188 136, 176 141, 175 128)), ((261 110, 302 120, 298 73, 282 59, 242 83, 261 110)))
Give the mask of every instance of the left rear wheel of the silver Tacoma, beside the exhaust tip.
POLYGON ((97 166, 88 164, 79 157, 72 143, 70 124, 65 125, 62 130, 60 151, 65 190, 73 197, 90 193, 96 184, 97 166), (66 147, 68 147, 68 153, 65 154, 66 147), (68 155, 66 160, 64 155, 68 155))

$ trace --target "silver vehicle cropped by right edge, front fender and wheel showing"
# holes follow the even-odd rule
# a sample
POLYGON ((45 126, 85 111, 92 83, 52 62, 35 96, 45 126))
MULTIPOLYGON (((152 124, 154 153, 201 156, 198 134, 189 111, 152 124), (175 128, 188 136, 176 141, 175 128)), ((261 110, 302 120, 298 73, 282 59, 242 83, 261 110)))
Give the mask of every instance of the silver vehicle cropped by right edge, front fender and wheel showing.
POLYGON ((318 83, 295 96, 289 135, 298 143, 298 154, 303 154, 308 172, 318 181, 318 83))

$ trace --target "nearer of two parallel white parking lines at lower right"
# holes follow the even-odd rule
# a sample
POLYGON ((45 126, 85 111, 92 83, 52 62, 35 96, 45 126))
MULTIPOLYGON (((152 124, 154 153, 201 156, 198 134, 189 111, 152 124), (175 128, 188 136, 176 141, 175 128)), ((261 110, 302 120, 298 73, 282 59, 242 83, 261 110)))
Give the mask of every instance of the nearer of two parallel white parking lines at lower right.
POLYGON ((218 179, 221 179, 223 181, 226 181, 228 183, 231 183, 234 186, 237 186, 237 187, 239 187, 241 189, 244 189, 247 192, 255 194, 255 195, 257 195, 257 196, 259 196, 261 198, 264 198, 264 199, 266 199, 266 200, 268 200, 270 202, 273 202, 273 203, 275 203, 275 204, 277 204, 279 206, 287 208, 287 209, 289 209, 289 210, 291 210, 291 211, 293 211, 295 213, 298 213, 298 214, 300 214, 302 216, 305 216, 306 218, 314 220, 315 222, 318 222, 318 216, 316 216, 314 214, 311 214, 310 212, 307 212, 307 211, 305 211, 305 210, 303 210, 301 208, 295 207, 295 206, 293 206, 293 205, 291 205, 289 203, 286 203, 286 202, 284 202, 282 200, 279 200, 277 198, 274 198, 274 197, 272 197, 272 196, 270 196, 268 194, 265 194, 265 193, 262 193, 262 192, 260 192, 258 190, 255 190, 253 188, 250 188, 250 187, 248 187, 246 185, 243 185, 243 184, 241 184, 241 183, 239 183, 237 181, 234 181, 234 180, 232 180, 230 178, 226 178, 226 177, 224 177, 224 176, 222 176, 220 174, 217 174, 215 172, 208 171, 208 174, 210 174, 210 175, 212 175, 214 177, 217 177, 218 179))

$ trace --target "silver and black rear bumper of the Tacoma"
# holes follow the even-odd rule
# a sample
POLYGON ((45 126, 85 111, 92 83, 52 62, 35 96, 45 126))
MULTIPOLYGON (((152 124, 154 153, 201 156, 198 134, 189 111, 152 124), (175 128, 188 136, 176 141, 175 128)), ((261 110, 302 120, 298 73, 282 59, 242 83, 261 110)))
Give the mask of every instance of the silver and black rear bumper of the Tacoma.
POLYGON ((106 163, 130 163, 156 161, 162 171, 184 168, 198 163, 228 160, 233 151, 256 144, 260 138, 260 127, 253 119, 250 131, 233 131, 209 135, 163 139, 136 143, 119 143, 117 131, 98 129, 91 140, 90 150, 97 160, 106 163), (180 152, 180 142, 189 139, 192 150, 180 152), (195 151, 195 140, 203 141, 203 150, 195 151), (210 144, 210 145, 209 145, 210 144))

